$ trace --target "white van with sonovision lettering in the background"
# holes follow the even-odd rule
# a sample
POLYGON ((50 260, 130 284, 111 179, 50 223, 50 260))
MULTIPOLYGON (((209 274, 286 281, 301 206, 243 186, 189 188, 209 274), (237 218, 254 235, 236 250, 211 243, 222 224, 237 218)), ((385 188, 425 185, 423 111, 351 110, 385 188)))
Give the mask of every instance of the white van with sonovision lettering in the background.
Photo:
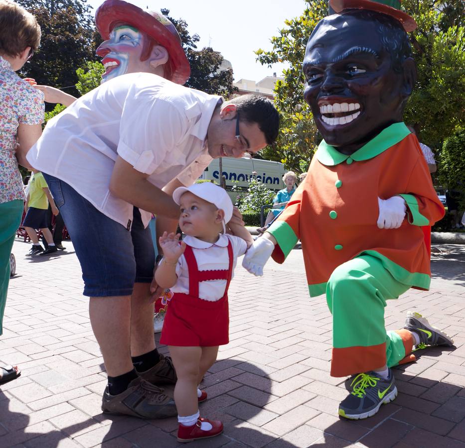
MULTIPOLYGON (((223 157, 223 177, 226 181, 226 190, 233 200, 236 200, 237 193, 230 192, 231 187, 236 184, 241 190, 247 190, 249 186, 249 178, 254 176, 262 182, 267 188, 278 192, 285 188, 283 176, 286 170, 280 162, 272 162, 271 160, 248 159, 241 157, 223 157)), ((213 180, 215 183, 220 183, 220 162, 219 159, 213 159, 210 165, 205 169, 199 179, 213 180)))

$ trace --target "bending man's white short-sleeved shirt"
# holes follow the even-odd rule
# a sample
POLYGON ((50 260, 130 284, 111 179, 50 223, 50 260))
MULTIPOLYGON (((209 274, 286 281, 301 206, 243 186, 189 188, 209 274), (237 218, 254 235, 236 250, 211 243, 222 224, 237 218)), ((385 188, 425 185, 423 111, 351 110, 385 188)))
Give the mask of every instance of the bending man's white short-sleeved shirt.
MULTIPOLYGON (((151 73, 118 76, 53 117, 27 160, 130 228, 133 205, 109 190, 117 156, 158 188, 173 179, 193 184, 212 160, 207 129, 222 101, 151 73)), ((151 213, 141 215, 147 226, 151 213)))

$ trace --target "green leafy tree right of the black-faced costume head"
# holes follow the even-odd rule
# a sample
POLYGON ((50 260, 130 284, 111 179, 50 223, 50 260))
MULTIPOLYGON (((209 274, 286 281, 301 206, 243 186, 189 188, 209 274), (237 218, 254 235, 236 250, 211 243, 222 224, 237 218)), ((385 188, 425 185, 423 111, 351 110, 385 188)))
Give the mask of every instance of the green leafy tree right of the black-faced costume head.
MULTIPOLYGON (((462 2, 462 10, 463 10, 462 2)), ((465 19, 459 2, 405 0, 418 28, 409 33, 418 81, 405 110, 420 138, 440 148, 465 122, 465 19), (447 16, 442 9, 451 12, 447 16), (455 18, 454 18, 455 17, 455 18)))

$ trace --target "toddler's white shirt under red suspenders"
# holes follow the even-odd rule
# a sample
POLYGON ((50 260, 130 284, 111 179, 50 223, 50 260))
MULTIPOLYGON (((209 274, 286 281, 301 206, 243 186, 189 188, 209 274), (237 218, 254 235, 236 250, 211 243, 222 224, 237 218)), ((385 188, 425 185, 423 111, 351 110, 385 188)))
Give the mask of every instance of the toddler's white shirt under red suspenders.
MULTIPOLYGON (((233 272, 236 267, 237 257, 244 255, 247 243, 238 236, 220 234, 216 243, 202 241, 193 236, 186 236, 184 242, 192 247, 199 271, 210 271, 216 269, 229 269, 228 242, 231 241, 233 250, 233 272)), ((172 292, 189 294, 189 270, 184 255, 179 257, 176 264, 177 282, 170 288, 172 292)), ((199 297, 203 300, 216 302, 224 296, 226 280, 209 280, 199 283, 199 297)))

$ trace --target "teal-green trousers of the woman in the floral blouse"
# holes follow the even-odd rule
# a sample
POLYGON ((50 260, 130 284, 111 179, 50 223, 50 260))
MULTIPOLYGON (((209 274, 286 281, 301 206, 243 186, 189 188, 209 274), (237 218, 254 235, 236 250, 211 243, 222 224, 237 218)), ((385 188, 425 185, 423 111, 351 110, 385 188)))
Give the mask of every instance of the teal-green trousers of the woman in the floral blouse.
POLYGON ((0 204, 0 335, 3 333, 3 313, 9 283, 9 256, 16 230, 21 224, 24 201, 17 199, 0 204))

